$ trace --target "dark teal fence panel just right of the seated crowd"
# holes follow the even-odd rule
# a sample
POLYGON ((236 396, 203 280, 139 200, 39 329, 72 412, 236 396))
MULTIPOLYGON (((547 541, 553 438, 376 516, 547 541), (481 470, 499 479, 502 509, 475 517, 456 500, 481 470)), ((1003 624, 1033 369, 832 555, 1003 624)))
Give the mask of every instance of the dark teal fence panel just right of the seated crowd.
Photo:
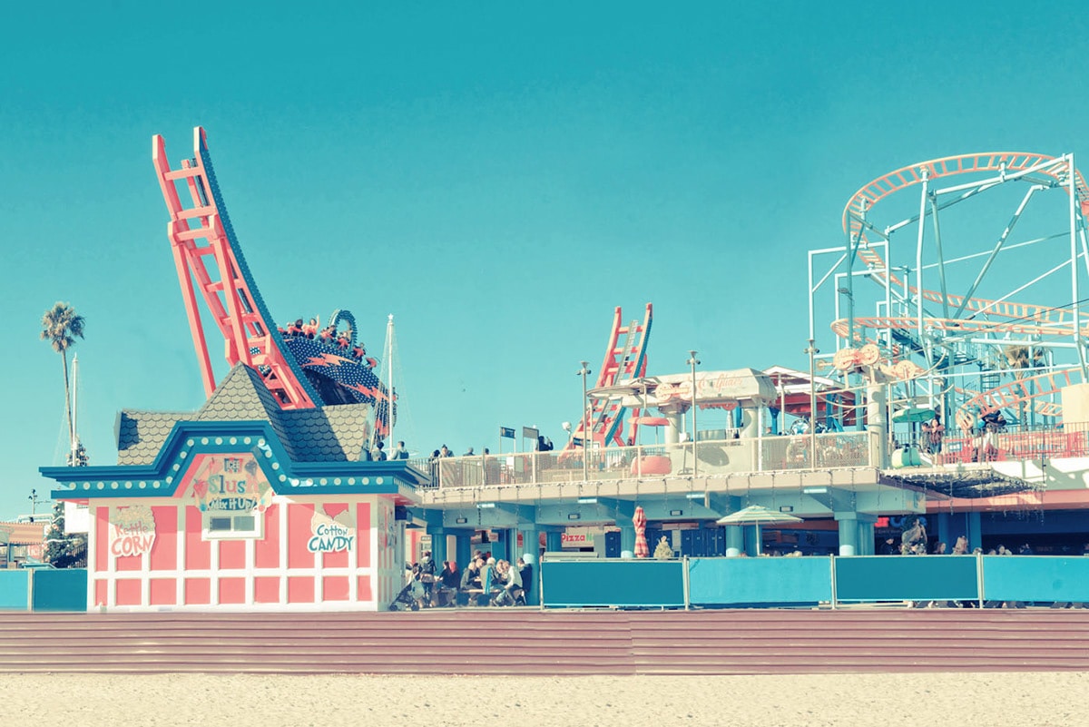
POLYGON ((684 607, 681 560, 541 560, 541 605, 684 607))

